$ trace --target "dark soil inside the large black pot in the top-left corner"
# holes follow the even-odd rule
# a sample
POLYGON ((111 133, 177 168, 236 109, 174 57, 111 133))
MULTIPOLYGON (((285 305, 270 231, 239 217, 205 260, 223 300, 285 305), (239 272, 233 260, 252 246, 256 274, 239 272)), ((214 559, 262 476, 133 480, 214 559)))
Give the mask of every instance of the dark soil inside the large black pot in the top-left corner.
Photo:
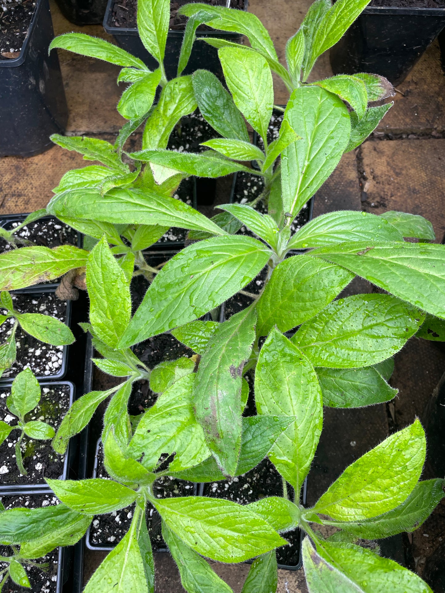
POLYGON ((36 9, 36 2, 3 0, 1 8, 0 59, 18 58, 36 9))

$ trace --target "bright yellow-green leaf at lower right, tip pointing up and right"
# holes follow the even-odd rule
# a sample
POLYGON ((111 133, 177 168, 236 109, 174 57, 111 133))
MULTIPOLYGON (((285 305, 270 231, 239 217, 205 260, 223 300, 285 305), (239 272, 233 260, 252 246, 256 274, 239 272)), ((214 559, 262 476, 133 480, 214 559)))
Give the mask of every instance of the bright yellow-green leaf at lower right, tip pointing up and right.
POLYGON ((417 484, 425 449, 424 430, 415 420, 347 467, 313 511, 338 521, 363 521, 392 511, 417 484))

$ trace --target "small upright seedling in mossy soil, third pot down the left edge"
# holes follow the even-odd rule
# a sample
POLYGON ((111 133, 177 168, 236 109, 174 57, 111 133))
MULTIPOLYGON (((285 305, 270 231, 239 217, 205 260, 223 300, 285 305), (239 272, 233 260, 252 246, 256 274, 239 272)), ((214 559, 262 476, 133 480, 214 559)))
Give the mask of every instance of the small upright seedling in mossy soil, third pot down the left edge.
POLYGON ((7 397, 6 404, 9 412, 17 416, 17 424, 9 425, 3 420, 0 421, 0 444, 9 436, 12 431, 21 431, 20 436, 15 442, 15 461, 20 473, 27 475, 23 467, 23 458, 21 454, 21 442, 24 436, 39 441, 52 439, 55 430, 52 426, 42 420, 28 420, 25 416, 37 407, 40 401, 40 385, 34 377, 31 369, 25 369, 20 372, 14 381, 12 381, 11 393, 7 397))

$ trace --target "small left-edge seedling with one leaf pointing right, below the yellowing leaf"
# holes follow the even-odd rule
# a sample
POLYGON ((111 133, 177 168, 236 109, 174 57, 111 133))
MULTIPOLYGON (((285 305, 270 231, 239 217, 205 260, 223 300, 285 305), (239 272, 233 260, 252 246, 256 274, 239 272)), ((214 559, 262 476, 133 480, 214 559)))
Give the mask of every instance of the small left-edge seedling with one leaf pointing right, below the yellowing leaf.
MULTIPOLYGON (((30 247, 29 249, 36 250, 39 249, 39 247, 30 247)), ((43 249, 46 249, 46 247, 43 247, 43 249)), ((18 285, 20 285, 20 282, 18 282, 16 286, 18 285)), ((40 342, 45 342, 46 344, 65 346, 74 342, 74 336, 69 327, 55 317, 43 315, 41 313, 18 313, 18 311, 15 311, 14 302, 7 291, 2 291, 0 293, 0 307, 5 310, 5 314, 0 314, 0 325, 5 323, 5 321, 11 317, 15 320, 7 341, 0 344, 0 377, 6 369, 14 364, 15 358, 17 357, 15 332, 19 325, 21 329, 30 334, 30 336, 33 336, 37 338, 37 340, 40 340, 40 342)))

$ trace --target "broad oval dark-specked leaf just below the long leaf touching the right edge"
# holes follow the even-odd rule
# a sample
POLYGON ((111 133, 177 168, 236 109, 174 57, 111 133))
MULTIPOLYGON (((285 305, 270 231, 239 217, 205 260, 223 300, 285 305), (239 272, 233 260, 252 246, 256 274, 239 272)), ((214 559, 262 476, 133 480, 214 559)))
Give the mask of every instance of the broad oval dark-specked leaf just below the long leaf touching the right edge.
POLYGON ((390 295, 353 295, 306 321, 292 342, 314 366, 360 368, 394 355, 423 321, 415 307, 390 295))

